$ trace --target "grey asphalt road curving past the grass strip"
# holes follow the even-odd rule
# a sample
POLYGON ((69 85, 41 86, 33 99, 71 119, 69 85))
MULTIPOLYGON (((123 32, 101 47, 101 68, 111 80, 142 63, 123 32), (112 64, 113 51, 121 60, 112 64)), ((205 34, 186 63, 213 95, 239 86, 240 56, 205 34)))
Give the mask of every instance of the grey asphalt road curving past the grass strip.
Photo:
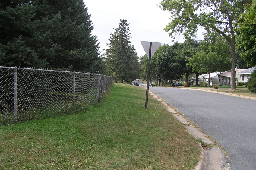
POLYGON ((255 100, 175 87, 149 90, 213 136, 229 154, 232 170, 256 169, 255 100))

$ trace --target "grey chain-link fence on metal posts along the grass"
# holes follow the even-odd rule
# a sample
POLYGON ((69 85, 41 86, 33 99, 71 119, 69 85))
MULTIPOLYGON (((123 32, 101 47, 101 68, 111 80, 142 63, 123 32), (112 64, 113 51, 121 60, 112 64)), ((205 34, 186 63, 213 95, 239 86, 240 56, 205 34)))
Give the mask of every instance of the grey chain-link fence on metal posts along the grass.
POLYGON ((0 67, 0 124, 72 114, 100 102, 114 77, 0 67))

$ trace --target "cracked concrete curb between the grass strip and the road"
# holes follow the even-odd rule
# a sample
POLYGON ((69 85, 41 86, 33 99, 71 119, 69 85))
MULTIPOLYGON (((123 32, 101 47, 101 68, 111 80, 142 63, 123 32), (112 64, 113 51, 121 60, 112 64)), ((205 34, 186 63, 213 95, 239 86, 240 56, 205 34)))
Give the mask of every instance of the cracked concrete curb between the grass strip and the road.
MULTIPOLYGON (((171 107, 167 102, 165 102, 160 97, 156 96, 149 90, 149 93, 158 101, 160 101, 166 109, 175 116, 184 126, 188 129, 188 132, 191 133, 196 139, 201 138, 204 143, 214 145, 214 142, 206 137, 206 135, 195 128, 192 123, 181 113, 177 112, 175 108, 171 107)), ((226 155, 222 150, 216 146, 210 148, 203 148, 201 146, 201 161, 198 162, 198 165, 195 167, 195 170, 229 170, 230 165, 227 162, 226 155)))

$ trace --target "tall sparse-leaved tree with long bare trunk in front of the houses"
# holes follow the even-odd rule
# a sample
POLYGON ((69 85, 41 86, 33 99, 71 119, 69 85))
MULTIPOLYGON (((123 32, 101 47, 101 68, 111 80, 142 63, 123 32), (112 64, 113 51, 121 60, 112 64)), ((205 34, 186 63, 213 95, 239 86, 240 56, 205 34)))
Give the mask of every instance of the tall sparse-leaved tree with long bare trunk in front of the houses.
POLYGON ((183 33, 185 37, 196 36, 199 26, 206 30, 213 29, 229 43, 232 56, 232 84, 235 84, 235 32, 239 15, 244 13, 244 6, 250 0, 163 0, 160 8, 168 10, 172 21, 165 27, 170 36, 183 33))

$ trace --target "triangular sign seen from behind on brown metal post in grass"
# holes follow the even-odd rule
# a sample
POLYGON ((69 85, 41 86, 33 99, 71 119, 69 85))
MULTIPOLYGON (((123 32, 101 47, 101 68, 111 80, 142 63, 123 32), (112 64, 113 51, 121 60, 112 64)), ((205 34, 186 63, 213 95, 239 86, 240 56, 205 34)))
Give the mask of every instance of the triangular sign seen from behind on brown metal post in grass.
POLYGON ((143 46, 143 48, 144 48, 144 50, 147 54, 147 57, 148 57, 147 90, 146 90, 146 102, 145 102, 145 108, 147 109, 149 79, 150 79, 150 77, 149 77, 149 75, 150 75, 150 61, 151 61, 151 58, 153 57, 154 53, 158 49, 158 47, 161 45, 161 43, 141 41, 141 45, 143 46))

